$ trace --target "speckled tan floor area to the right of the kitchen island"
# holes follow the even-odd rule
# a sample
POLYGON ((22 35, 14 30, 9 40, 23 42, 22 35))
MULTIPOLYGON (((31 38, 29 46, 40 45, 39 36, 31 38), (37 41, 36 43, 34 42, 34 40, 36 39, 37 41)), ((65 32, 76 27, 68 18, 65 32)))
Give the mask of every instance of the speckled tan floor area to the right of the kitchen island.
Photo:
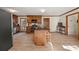
POLYGON ((55 51, 69 51, 62 46, 77 46, 79 48, 79 40, 76 37, 63 35, 60 33, 52 33, 51 36, 53 48, 55 51))

